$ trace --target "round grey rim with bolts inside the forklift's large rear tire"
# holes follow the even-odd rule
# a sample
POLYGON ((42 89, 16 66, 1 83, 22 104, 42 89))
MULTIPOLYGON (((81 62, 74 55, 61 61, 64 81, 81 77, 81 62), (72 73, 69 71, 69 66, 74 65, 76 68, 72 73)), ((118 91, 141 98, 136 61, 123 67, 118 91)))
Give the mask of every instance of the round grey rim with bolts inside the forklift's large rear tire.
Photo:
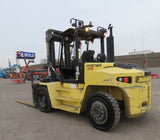
POLYGON ((90 115, 95 123, 104 124, 108 119, 108 109, 103 102, 96 100, 91 104, 90 115))

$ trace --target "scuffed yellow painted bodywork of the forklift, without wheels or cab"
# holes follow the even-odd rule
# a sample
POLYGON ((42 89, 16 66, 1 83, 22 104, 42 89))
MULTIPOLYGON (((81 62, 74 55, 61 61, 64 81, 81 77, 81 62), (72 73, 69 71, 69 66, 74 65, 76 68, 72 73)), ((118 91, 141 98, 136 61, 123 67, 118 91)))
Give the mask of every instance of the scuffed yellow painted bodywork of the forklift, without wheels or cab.
POLYGON ((124 101, 127 118, 141 116, 151 108, 150 77, 138 69, 114 67, 114 63, 85 63, 84 83, 39 83, 47 86, 53 108, 80 113, 88 97, 95 92, 108 92, 124 101), (132 83, 117 81, 117 77, 132 77, 132 83))

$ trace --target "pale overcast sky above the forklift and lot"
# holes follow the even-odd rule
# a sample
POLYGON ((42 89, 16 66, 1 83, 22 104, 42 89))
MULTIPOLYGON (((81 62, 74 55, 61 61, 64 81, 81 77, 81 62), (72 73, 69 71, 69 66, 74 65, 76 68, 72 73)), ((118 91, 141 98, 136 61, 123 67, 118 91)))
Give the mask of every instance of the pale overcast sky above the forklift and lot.
POLYGON ((159 0, 0 0, 0 67, 16 63, 16 51, 46 58, 45 31, 65 30, 70 18, 114 26, 115 54, 160 52, 159 0), (144 39, 143 39, 144 38, 144 39), (142 41, 143 44, 142 45, 142 41))

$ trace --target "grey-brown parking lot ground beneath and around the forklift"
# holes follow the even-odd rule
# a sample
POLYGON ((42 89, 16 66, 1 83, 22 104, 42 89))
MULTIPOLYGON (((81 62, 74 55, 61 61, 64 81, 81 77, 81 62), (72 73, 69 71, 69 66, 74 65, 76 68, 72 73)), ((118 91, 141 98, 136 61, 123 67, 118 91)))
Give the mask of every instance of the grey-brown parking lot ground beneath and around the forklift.
POLYGON ((93 128, 85 114, 42 113, 16 100, 32 102, 31 83, 0 79, 0 140, 159 140, 160 79, 152 80, 152 108, 142 117, 121 117, 112 131, 93 128))

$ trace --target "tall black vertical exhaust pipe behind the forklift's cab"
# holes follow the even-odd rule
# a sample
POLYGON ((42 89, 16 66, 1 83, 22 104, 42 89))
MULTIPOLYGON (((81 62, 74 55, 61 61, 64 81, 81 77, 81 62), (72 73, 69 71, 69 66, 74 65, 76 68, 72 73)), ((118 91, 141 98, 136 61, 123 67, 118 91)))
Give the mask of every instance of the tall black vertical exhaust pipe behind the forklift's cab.
POLYGON ((112 28, 113 27, 110 24, 108 26, 110 35, 107 37, 107 62, 114 62, 114 37, 112 34, 112 28))

